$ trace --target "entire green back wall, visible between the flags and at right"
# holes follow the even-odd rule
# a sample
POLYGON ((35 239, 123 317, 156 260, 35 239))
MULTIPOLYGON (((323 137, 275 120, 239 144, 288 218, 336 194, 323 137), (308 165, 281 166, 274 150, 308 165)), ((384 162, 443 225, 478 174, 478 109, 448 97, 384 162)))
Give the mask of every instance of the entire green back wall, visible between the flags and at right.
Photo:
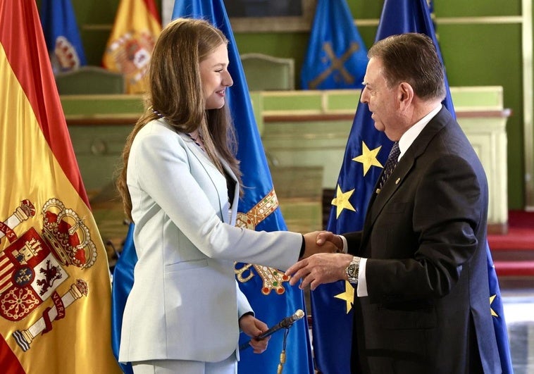
MULTIPOLYGON (((37 1, 39 4, 39 1, 37 1)), ((100 65, 119 0, 73 0, 87 59, 100 65)), ((378 20, 383 1, 347 0, 356 20, 378 20)), ((437 34, 449 85, 504 87, 504 106, 511 108, 507 123, 509 208, 525 204, 523 165, 523 87, 521 25, 519 23, 440 23, 440 18, 521 15, 521 0, 435 0, 437 34)), ((161 8, 161 0, 156 0, 161 8)), ((375 38, 376 26, 360 26, 366 46, 375 38)), ((235 33, 240 53, 258 52, 294 58, 295 83, 306 54, 309 32, 235 33)))

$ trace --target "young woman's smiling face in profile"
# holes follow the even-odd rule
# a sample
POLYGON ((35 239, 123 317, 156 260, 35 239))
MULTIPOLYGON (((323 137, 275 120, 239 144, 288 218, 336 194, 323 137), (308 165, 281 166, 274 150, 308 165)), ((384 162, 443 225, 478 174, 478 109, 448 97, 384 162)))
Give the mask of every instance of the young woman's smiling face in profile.
POLYGON ((200 62, 200 79, 206 110, 222 108, 225 104, 225 90, 234 84, 228 73, 228 48, 225 43, 218 46, 200 62))

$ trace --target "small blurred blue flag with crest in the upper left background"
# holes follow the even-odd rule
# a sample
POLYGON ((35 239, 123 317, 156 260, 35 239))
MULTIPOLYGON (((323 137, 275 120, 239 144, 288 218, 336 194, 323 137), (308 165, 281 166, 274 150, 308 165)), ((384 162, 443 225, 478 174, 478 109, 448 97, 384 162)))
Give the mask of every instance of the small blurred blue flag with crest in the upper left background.
POLYGON ((42 0, 41 23, 54 74, 87 65, 70 0, 42 0))

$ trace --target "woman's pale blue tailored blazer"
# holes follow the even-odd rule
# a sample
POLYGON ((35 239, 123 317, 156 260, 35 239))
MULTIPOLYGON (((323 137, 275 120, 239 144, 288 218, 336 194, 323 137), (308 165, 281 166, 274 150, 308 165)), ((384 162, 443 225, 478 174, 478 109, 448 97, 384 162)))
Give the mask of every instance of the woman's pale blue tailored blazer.
POLYGON ((135 137, 127 180, 138 261, 119 361, 228 358, 237 349, 238 318, 252 310, 234 261, 285 270, 297 261, 302 235, 235 227, 240 186, 230 206, 225 176, 165 119, 135 137))

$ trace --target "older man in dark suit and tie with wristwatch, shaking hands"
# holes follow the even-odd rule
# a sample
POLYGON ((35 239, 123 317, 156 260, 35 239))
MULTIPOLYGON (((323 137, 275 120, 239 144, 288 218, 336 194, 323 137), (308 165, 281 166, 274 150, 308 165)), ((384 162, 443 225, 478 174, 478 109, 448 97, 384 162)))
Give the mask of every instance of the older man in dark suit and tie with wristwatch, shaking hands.
MULTIPOLYGON (((302 287, 357 287, 353 373, 501 373, 486 258, 488 182, 441 101, 430 38, 377 42, 361 102, 395 142, 361 232, 323 233, 348 254, 316 254, 287 270, 302 287)), ((348 347, 347 347, 348 349, 348 347)))

